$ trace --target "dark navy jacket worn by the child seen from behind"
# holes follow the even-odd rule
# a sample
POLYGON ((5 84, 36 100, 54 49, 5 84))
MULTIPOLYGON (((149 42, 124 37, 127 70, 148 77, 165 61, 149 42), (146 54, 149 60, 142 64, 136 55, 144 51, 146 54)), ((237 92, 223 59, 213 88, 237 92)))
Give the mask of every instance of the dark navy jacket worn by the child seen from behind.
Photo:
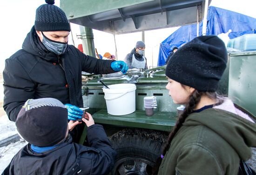
POLYGON ((101 125, 88 127, 90 147, 72 142, 70 136, 60 146, 35 153, 23 147, 2 175, 107 175, 113 168, 116 151, 101 125))

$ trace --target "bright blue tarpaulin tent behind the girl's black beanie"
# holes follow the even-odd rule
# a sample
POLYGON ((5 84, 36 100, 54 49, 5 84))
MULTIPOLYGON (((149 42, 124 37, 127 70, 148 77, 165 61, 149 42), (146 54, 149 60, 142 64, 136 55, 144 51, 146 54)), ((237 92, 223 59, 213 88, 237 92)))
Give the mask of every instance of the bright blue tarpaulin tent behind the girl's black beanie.
MULTIPOLYGON (((256 19, 222 8, 209 6, 206 35, 219 35, 229 32, 233 39, 244 34, 256 33, 256 19), (229 31, 231 30, 231 32, 229 31)), ((202 35, 202 22, 199 24, 199 36, 202 35)), ((172 48, 180 47, 196 37, 196 24, 185 25, 166 38, 161 44, 158 56, 158 66, 165 64, 172 48)))

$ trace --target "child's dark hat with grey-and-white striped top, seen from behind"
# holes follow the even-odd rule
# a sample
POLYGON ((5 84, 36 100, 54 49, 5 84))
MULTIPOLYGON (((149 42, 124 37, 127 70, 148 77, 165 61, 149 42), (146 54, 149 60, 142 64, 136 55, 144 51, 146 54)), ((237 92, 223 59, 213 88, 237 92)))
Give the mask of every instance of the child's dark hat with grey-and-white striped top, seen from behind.
POLYGON ((15 124, 28 143, 53 146, 66 136, 67 108, 53 98, 30 99, 22 106, 15 124))

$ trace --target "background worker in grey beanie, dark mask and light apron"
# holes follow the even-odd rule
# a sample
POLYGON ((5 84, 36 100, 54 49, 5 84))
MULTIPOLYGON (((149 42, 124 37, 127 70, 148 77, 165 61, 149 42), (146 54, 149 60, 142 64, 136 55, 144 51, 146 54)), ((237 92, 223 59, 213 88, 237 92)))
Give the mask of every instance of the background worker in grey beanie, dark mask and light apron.
POLYGON ((138 41, 135 48, 127 54, 124 62, 128 64, 129 69, 148 69, 147 59, 145 57, 145 43, 138 41))

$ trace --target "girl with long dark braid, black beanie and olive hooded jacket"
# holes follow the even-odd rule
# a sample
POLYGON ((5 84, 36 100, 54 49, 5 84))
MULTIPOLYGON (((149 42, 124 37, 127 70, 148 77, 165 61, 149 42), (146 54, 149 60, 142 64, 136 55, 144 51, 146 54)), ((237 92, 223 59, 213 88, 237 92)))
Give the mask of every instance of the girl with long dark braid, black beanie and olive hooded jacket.
POLYGON ((256 118, 216 93, 227 50, 216 36, 201 36, 177 50, 166 67, 166 88, 184 112, 163 145, 158 175, 237 175, 240 159, 256 147, 256 118))

